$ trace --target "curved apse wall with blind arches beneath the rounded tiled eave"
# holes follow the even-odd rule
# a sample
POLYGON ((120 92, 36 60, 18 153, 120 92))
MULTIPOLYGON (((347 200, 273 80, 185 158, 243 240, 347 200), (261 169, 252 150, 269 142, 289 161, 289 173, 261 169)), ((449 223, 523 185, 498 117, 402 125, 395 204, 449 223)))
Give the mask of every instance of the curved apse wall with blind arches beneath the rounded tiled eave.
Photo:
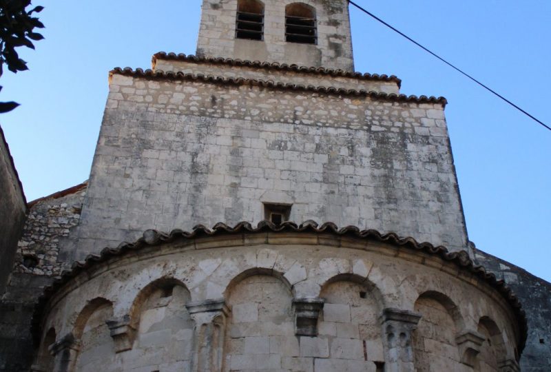
POLYGON ((183 371, 376 372, 383 364, 410 371, 426 360, 431 368, 460 371, 462 347, 474 340, 468 335, 478 333, 484 337, 477 340, 492 338, 492 344, 481 346, 475 362, 497 368, 514 358, 520 335, 518 324, 510 322, 512 309, 474 273, 458 276, 456 264, 422 251, 391 254, 396 247, 384 243, 367 249, 349 239, 335 247, 314 244, 313 233, 278 234, 271 243, 256 244, 253 236, 244 236, 247 245, 231 247, 216 236, 199 238, 202 249, 185 249, 189 242, 183 241, 156 243, 154 250, 130 250, 97 263, 90 268, 95 275, 83 271, 54 293, 40 338, 46 340, 50 329, 75 335, 80 349, 73 359, 82 371, 88 363, 105 371, 116 366, 155 371, 164 365, 183 371), (304 282, 323 283, 305 287, 311 300, 293 300, 287 271, 258 267, 256 258, 266 252, 278 256, 274 262, 293 262, 282 265, 287 271, 304 267, 304 282), (214 270, 190 280, 214 258, 214 270), (316 269, 346 260, 370 262, 372 272, 385 276, 363 278, 351 264, 336 272, 316 269), (396 288, 398 278, 409 278, 409 285, 396 288), (222 288, 223 299, 210 297, 212 282, 222 288), (464 301, 473 296, 476 302, 464 301), (324 303, 316 308, 320 331, 295 335, 295 312, 304 310, 297 304, 314 302, 324 303), (123 322, 107 322, 110 329, 105 321, 112 319, 123 322), (121 325, 135 329, 130 349, 128 342, 121 348, 112 339, 121 325))

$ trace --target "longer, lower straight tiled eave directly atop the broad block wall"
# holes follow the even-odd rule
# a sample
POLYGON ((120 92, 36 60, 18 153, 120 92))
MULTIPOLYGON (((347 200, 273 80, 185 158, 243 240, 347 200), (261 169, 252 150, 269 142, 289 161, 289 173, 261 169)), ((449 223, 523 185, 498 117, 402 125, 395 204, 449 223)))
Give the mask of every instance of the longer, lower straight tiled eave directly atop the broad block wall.
POLYGON ((160 70, 142 70, 137 68, 114 68, 110 71, 110 75, 119 74, 123 76, 143 77, 145 79, 168 79, 168 80, 189 80, 189 81, 205 81, 215 84, 233 84, 233 85, 258 85, 261 87, 271 87, 281 90, 298 90, 303 92, 316 92, 324 94, 335 94, 339 96, 368 96, 371 99, 378 99, 393 102, 414 102, 414 103, 437 103, 446 107, 448 101, 444 97, 434 96, 406 96, 405 94, 388 94, 383 92, 373 92, 366 90, 353 90, 337 87, 315 87, 313 85, 300 84, 285 84, 275 83, 274 81, 264 81, 245 78, 226 78, 223 76, 211 76, 204 74, 184 74, 183 72, 164 72, 160 70))

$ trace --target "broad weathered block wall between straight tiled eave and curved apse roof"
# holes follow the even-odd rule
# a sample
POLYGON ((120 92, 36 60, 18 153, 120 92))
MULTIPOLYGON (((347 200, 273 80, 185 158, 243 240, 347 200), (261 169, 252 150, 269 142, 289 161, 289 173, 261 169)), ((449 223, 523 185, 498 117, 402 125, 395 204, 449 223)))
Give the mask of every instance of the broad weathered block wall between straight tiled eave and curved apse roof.
POLYGON ((439 103, 112 76, 76 258, 149 228, 258 223, 262 203, 466 247, 439 103))

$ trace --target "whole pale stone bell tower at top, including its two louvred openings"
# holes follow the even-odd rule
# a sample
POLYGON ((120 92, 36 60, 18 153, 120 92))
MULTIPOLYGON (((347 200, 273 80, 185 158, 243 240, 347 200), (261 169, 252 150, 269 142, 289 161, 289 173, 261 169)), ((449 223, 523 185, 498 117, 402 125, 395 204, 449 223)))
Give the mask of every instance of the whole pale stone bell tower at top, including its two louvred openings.
POLYGON ((204 0, 198 56, 353 72, 346 0, 204 0))

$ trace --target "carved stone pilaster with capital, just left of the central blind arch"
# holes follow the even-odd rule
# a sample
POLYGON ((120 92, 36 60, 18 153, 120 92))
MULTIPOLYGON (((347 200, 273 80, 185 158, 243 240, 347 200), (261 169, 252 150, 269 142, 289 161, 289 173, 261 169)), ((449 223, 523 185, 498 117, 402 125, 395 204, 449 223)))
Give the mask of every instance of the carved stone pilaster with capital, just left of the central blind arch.
POLYGON ((225 300, 190 303, 186 307, 195 321, 192 371, 221 371, 226 320, 229 314, 225 300))

